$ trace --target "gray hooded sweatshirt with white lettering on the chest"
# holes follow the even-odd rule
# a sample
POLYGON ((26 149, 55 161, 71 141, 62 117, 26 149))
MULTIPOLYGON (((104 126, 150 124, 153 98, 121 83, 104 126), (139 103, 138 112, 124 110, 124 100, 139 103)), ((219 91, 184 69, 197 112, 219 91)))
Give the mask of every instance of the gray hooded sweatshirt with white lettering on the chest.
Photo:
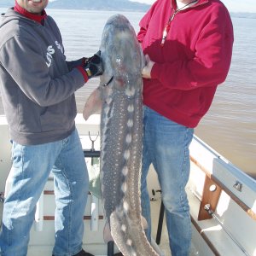
POLYGON ((47 16, 44 25, 9 9, 0 18, 0 89, 10 137, 22 145, 68 137, 77 114, 74 92, 84 85, 66 61, 61 33, 47 16))

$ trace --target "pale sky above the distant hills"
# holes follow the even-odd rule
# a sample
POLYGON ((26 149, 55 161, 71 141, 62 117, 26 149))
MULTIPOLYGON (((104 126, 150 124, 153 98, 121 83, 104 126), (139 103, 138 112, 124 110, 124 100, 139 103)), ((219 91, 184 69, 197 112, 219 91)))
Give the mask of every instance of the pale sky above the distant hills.
MULTIPOLYGON (((155 0, 130 0, 139 3, 152 4, 155 0)), ((221 0, 230 12, 256 13, 255 0, 221 0)))

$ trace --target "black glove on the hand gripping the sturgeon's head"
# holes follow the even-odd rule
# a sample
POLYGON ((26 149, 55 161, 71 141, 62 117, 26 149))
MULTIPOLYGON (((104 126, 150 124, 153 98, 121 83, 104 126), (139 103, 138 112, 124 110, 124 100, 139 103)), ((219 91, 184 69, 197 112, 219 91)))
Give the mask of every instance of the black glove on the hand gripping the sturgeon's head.
POLYGON ((88 79, 102 75, 103 66, 100 50, 84 61, 84 70, 88 75, 88 79))

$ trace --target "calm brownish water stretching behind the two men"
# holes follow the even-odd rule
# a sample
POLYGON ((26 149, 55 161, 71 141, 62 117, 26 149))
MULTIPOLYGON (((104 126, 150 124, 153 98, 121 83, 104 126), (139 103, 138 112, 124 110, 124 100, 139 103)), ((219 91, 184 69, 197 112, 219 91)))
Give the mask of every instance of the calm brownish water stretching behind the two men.
MULTIPOLYGON (((0 9, 1 13, 5 9, 0 9)), ((138 31, 143 13, 119 12, 138 31)), ((61 29, 68 60, 93 55, 100 46, 102 29, 110 11, 54 10, 61 29)), ((256 178, 256 19, 232 18, 235 44, 230 73, 217 94, 207 115, 195 129, 195 134, 226 159, 251 177, 256 178)), ((98 79, 80 89, 77 94, 79 112, 98 79)), ((3 106, 0 96, 0 114, 3 106)))

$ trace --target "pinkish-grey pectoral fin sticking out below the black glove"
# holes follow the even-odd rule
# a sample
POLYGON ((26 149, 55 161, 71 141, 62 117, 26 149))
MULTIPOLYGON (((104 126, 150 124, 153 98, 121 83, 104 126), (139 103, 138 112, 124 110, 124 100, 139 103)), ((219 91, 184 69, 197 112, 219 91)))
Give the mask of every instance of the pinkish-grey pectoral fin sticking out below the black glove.
POLYGON ((87 102, 84 105, 83 117, 85 120, 89 119, 90 115, 94 113, 101 113, 102 110, 102 97, 101 97, 101 90, 96 88, 94 90, 87 102))

